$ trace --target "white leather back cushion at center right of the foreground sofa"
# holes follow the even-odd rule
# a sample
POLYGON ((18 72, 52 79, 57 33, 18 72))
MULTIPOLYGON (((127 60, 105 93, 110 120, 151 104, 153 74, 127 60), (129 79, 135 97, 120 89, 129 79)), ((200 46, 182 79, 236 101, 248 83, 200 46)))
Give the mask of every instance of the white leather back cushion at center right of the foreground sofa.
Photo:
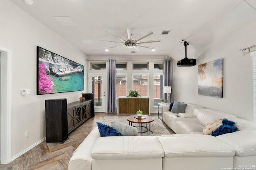
POLYGON ((165 157, 234 156, 234 149, 224 141, 198 134, 175 134, 158 137, 165 157))

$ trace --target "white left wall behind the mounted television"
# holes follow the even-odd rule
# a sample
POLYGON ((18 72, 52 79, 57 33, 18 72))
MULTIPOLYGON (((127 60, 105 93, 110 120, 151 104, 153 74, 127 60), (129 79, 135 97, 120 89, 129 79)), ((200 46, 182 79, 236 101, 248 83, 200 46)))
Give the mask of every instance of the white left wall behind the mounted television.
MULTIPOLYGON (((81 92, 36 95, 36 47, 86 66, 87 56, 9 0, 0 1, 0 47, 12 51, 12 158, 46 137, 44 100, 78 101, 81 92), (22 96, 22 89, 31 95, 22 96), (29 137, 25 138, 25 131, 29 137)), ((86 83, 86 74, 85 74, 86 83)), ((86 88, 84 88, 86 91, 86 88)))

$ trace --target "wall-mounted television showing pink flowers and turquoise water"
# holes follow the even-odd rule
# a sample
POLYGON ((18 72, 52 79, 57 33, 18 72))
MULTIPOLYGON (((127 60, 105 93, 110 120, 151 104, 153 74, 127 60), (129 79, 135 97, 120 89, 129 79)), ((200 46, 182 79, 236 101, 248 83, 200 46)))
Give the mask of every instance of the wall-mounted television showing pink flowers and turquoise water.
POLYGON ((37 94, 84 90, 84 66, 37 47, 37 94))

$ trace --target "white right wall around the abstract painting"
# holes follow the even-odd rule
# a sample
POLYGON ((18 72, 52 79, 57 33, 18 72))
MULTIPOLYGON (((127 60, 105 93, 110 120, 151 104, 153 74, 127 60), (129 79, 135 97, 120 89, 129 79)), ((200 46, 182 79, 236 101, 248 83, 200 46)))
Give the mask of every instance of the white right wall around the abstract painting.
MULTIPOLYGON (((223 98, 198 95, 198 66, 177 67, 177 61, 174 61, 174 100, 200 104, 252 121, 252 58, 248 52, 240 53, 238 49, 256 45, 255 19, 256 16, 238 23, 236 27, 230 27, 230 30, 222 36, 215 33, 215 37, 212 38, 213 43, 205 48, 207 50, 200 56, 193 57, 198 59, 197 64, 224 59, 223 98)), ((225 25, 225 22, 222 24, 225 25)), ((223 25, 217 25, 216 29, 223 25)), ((190 45, 193 45, 192 41, 190 45)))

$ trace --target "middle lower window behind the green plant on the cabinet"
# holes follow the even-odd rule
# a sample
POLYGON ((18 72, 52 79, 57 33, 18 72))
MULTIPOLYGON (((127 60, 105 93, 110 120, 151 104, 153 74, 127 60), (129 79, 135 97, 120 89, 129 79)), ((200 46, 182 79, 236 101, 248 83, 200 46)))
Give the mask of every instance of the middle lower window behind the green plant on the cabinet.
POLYGON ((132 74, 132 86, 140 96, 148 97, 148 74, 132 74))

